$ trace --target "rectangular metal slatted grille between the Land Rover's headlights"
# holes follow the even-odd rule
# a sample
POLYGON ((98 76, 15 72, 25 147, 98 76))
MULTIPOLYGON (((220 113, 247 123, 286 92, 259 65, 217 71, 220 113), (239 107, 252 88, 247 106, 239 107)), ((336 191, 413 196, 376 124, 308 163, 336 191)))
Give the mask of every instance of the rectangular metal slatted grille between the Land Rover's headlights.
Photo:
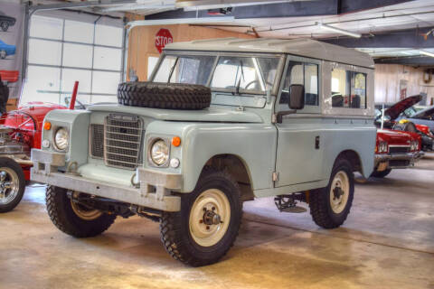
POLYGON ((104 162, 106 165, 136 169, 140 163, 142 121, 137 117, 114 119, 104 122, 104 162))

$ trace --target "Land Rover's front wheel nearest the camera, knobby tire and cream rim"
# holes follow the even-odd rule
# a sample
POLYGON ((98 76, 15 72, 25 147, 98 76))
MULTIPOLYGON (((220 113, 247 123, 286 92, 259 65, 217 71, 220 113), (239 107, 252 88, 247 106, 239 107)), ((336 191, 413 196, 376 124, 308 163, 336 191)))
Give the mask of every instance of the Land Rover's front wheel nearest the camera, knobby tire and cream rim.
POLYGON ((232 247, 241 225, 240 187, 226 172, 205 170, 196 188, 181 199, 181 210, 160 222, 166 251, 189 266, 217 262, 232 247))

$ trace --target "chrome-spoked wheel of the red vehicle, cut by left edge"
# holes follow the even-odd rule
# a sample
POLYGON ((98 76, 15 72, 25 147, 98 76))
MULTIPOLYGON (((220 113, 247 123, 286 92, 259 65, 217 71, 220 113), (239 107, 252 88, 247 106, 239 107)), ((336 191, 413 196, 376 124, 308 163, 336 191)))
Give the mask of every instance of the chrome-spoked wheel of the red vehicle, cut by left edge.
POLYGON ((25 177, 20 164, 8 157, 0 157, 0 213, 14 208, 23 199, 25 177))

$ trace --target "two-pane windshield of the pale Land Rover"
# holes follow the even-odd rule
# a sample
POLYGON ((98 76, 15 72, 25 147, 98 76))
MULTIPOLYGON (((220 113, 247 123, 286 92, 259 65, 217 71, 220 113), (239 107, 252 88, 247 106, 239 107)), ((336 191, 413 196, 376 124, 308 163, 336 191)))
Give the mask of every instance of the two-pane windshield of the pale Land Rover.
POLYGON ((153 81, 208 85, 211 77, 212 90, 265 93, 273 88, 280 61, 278 57, 221 56, 212 74, 215 59, 209 55, 165 55, 153 81))

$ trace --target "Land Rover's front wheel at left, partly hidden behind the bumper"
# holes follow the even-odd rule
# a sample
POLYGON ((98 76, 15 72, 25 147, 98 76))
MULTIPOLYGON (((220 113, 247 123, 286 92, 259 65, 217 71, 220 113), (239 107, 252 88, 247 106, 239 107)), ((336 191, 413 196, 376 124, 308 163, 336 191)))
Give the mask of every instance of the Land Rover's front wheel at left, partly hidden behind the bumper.
MULTIPOLYGON (((48 186, 45 201, 48 215, 52 223, 63 233, 76 238, 98 236, 116 219, 116 215, 109 215, 100 210, 90 209, 72 201, 68 190, 48 186)), ((79 192, 72 192, 80 194, 79 192)))

